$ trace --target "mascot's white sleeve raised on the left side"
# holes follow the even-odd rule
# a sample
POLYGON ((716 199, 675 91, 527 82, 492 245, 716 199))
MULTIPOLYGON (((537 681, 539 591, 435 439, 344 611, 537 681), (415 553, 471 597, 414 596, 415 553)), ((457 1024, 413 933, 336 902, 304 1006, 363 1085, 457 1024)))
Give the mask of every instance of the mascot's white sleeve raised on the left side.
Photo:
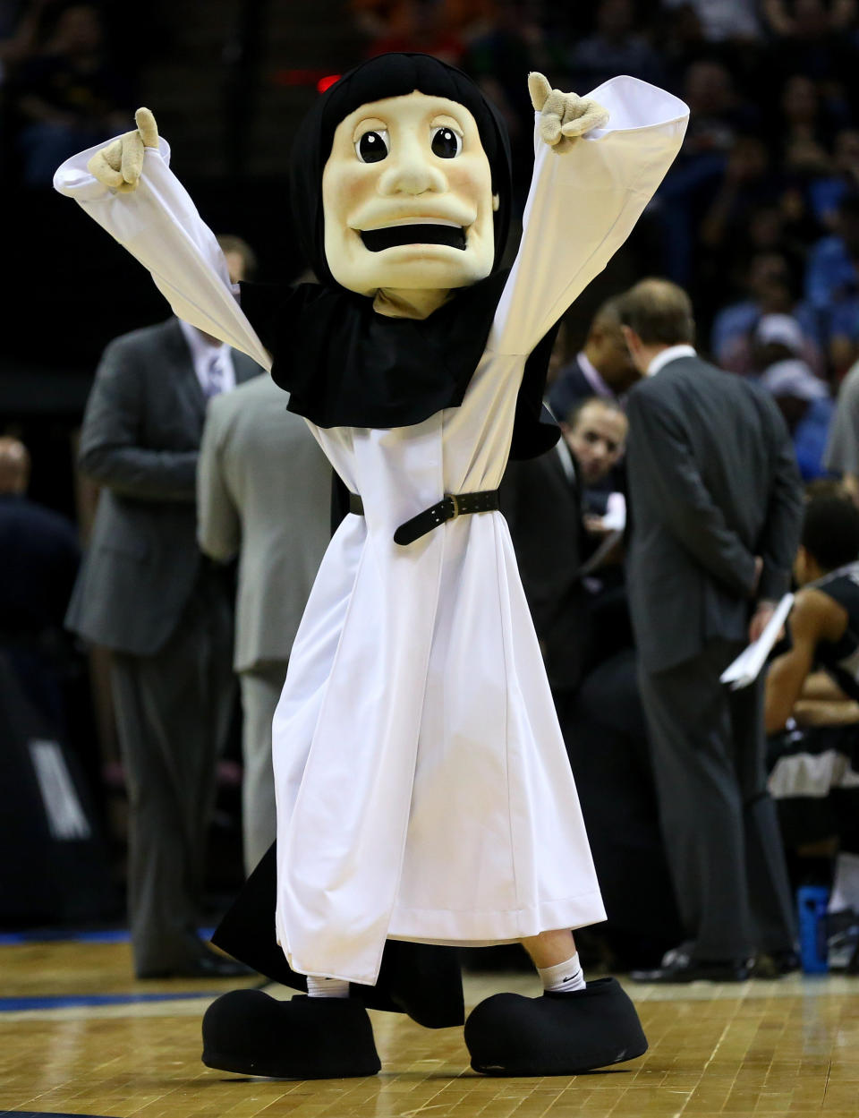
POLYGON ((137 189, 118 193, 87 171, 105 145, 73 155, 57 170, 54 187, 74 198, 147 268, 173 313, 220 338, 263 366, 271 359, 239 306, 214 234, 170 170, 170 145, 146 148, 137 189))

